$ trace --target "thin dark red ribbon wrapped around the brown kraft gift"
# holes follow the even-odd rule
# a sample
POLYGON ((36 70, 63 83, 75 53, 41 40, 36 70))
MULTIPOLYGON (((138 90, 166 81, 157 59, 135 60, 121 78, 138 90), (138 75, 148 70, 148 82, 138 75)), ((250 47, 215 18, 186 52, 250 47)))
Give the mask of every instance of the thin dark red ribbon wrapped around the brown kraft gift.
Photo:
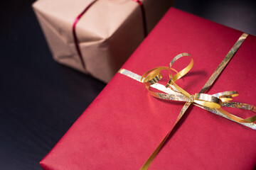
MULTIPOLYGON (((97 0, 94 0, 92 1, 76 18, 75 18, 75 21, 73 23, 73 38, 74 38, 74 42, 75 42, 75 48, 78 52, 78 55, 79 55, 79 58, 82 62, 82 69, 85 70, 85 62, 82 58, 82 53, 81 53, 81 50, 80 50, 80 47, 79 47, 79 43, 78 43, 78 36, 75 32, 75 27, 76 25, 78 24, 78 21, 80 20, 80 18, 85 14, 85 12, 92 6, 92 4, 95 4, 97 0)), ((132 1, 135 1, 139 4, 140 8, 142 9, 142 20, 143 20, 143 27, 144 27, 144 36, 146 37, 147 35, 147 29, 146 29, 146 16, 145 16, 145 10, 144 10, 144 6, 142 4, 142 1, 139 1, 139 0, 132 0, 132 1)))

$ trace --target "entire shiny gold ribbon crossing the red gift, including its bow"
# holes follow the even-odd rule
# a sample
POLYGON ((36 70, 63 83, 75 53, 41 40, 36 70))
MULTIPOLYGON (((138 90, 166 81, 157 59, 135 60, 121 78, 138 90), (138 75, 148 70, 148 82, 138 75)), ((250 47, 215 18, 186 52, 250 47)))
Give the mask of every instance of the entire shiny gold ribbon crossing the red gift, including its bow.
POLYGON ((229 120, 233 120, 234 122, 240 123, 241 125, 245 125, 248 128, 252 128, 253 130, 256 130, 256 124, 253 123, 256 120, 256 115, 250 118, 243 119, 236 115, 228 113, 228 111, 225 111, 222 108, 222 107, 242 108, 242 109, 256 113, 255 106, 252 106, 246 103, 238 103, 238 102, 231 101, 233 100, 233 97, 238 96, 237 91, 224 91, 224 92, 220 92, 218 94, 212 94, 212 95, 205 94, 205 92, 210 88, 210 86, 213 84, 215 79, 217 79, 217 77, 223 71, 223 69, 228 64, 228 62, 232 59, 233 55, 235 55, 235 52, 239 49, 240 45, 245 40, 245 38, 247 38, 247 35, 248 35, 247 33, 243 33, 238 39, 238 41, 235 42, 235 45, 228 52, 228 55, 225 56, 223 61, 220 63, 218 68, 212 74, 210 79, 208 79, 206 84, 203 86, 203 89, 201 89, 201 91, 198 94, 193 94, 193 95, 188 94, 187 91, 185 91, 184 89, 181 89, 181 87, 179 87, 175 83, 176 80, 181 79, 181 77, 187 74, 193 67, 193 58, 191 57, 191 55, 189 55, 186 52, 181 53, 180 55, 177 55, 176 57, 174 57, 174 59, 171 60, 169 67, 156 67, 154 69, 150 69, 142 77, 126 69, 119 69, 119 73, 142 82, 146 86, 146 89, 149 91, 149 94, 151 94, 151 96, 154 96, 156 98, 161 98, 164 100, 186 102, 183 108, 181 109, 181 112, 179 113, 178 118, 176 119, 176 122, 174 123, 173 127, 171 128, 171 130, 169 130, 166 137, 164 137, 164 140, 161 141, 160 145, 156 147, 156 149, 151 154, 149 159, 146 160, 145 164, 141 168, 142 170, 149 168, 149 165, 153 161, 154 157, 156 157, 156 154, 158 154, 161 147, 164 145, 164 142, 169 137, 171 131, 174 129, 175 125, 181 119, 181 117, 186 112, 188 107, 191 106, 191 104, 198 106, 200 108, 206 109, 207 111, 210 111, 217 115, 223 116, 224 118, 228 118, 229 120), (171 68, 171 66, 174 64, 174 62, 176 62, 176 60, 185 56, 191 58, 191 62, 188 64, 187 67, 182 69, 180 72, 177 72, 176 69, 171 68), (162 78, 162 74, 161 74, 162 70, 169 70, 169 82, 168 84, 166 84, 166 86, 157 83, 162 78), (176 72, 176 75, 172 76, 171 70, 176 72), (152 91, 151 90, 152 88, 162 91, 164 93, 158 93, 158 92, 152 91))

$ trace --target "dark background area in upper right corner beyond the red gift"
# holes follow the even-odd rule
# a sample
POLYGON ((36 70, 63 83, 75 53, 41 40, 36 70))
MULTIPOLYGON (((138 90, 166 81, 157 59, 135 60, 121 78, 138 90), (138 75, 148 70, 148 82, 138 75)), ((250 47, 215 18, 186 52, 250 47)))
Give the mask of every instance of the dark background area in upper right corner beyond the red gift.
POLYGON ((256 35, 255 0, 176 0, 175 6, 210 21, 256 35))

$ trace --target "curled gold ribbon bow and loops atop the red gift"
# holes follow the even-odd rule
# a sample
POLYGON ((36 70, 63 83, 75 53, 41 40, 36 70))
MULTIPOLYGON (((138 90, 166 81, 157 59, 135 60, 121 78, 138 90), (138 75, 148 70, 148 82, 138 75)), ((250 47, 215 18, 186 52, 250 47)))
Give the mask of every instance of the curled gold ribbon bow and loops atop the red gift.
MULTIPOLYGON (((255 106, 246 104, 246 103, 237 103, 237 102, 230 102, 233 100, 233 97, 238 96, 237 91, 224 91, 220 92, 218 94, 204 94, 204 93, 197 93, 197 94, 188 94, 187 91, 182 89, 180 86, 178 86, 175 81, 178 79, 181 79, 184 75, 186 75, 193 67, 193 58, 188 53, 184 52, 176 57, 174 57, 173 60, 171 60, 169 67, 156 67, 154 69, 150 69, 148 72, 146 72, 142 78, 142 83, 146 86, 146 89, 149 91, 149 94, 156 98, 161 98, 164 100, 171 100, 171 101, 185 101, 188 103, 193 103, 196 106, 201 106, 201 108, 208 108, 210 109, 218 109, 218 111, 222 112, 223 115, 227 116, 231 120, 234 120, 238 123, 253 123, 256 120, 256 115, 242 119, 238 118, 235 115, 232 115, 228 113, 227 111, 223 111, 223 109, 220 110, 220 108, 223 107, 230 107, 230 108, 242 108, 245 110, 249 110, 256 113, 255 106), (176 69, 172 68, 172 65, 176 60, 180 59, 181 57, 188 56, 191 58, 191 62, 188 64, 187 67, 182 69, 180 72, 177 72, 176 69), (162 70, 168 70, 169 71, 169 81, 166 84, 166 88, 169 90, 164 91, 165 93, 158 93, 155 91, 151 91, 150 86, 156 84, 158 81, 162 79, 162 70), (172 76, 171 71, 176 72, 174 76, 172 76)), ((158 84, 159 85, 159 84, 158 84)))

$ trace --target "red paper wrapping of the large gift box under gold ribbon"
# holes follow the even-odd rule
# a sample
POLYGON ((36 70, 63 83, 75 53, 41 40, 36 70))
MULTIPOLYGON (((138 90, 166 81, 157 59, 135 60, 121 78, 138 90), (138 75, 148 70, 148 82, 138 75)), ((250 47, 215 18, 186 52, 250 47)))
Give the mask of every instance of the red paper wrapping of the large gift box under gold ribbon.
MULTIPOLYGON (((122 68, 142 75, 189 52, 193 68, 176 83, 195 94, 240 35, 171 8, 122 68)), ((255 50, 256 38, 249 35, 208 94, 235 90, 240 95, 234 101, 255 105, 255 50)), ((179 71, 187 64, 185 58, 173 67, 179 71)), ((45 170, 140 169, 174 125, 183 104, 154 98, 144 84, 117 73, 40 164, 45 170)), ((242 118, 253 115, 238 108, 226 110, 242 118)), ((190 106, 149 169, 253 169, 255 144, 255 130, 190 106)))

